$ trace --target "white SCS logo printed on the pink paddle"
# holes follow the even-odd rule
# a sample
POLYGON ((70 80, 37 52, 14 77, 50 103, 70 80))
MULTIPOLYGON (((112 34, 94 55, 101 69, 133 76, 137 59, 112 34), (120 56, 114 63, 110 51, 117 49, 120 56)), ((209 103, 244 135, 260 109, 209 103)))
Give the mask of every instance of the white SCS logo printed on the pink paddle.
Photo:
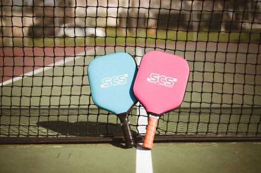
POLYGON ((160 76, 159 74, 156 73, 151 73, 150 78, 147 78, 147 81, 158 85, 172 87, 174 85, 174 82, 177 82, 177 79, 166 77, 164 75, 160 76))

